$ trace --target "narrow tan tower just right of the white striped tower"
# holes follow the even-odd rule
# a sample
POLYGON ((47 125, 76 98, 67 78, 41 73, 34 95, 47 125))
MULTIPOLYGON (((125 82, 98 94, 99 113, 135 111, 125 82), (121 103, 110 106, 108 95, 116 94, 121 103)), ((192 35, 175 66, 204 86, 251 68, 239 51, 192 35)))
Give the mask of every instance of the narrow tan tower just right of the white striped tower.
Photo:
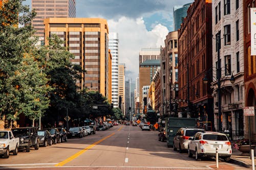
POLYGON ((121 97, 121 101, 119 100, 120 109, 125 115, 125 64, 123 63, 118 64, 118 95, 121 97))

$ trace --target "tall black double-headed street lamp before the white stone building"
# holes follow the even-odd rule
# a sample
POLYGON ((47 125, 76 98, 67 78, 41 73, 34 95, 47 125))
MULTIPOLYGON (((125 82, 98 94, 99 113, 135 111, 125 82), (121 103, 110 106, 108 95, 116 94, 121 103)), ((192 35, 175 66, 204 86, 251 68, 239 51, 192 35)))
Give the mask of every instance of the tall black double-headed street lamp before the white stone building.
MULTIPOLYGON (((216 38, 216 41, 217 41, 217 44, 218 44, 218 67, 217 67, 217 85, 218 85, 218 88, 217 88, 217 93, 218 93, 218 130, 221 131, 222 130, 222 122, 221 122, 221 116, 222 116, 222 113, 221 113, 221 60, 220 60, 220 48, 221 48, 221 43, 220 43, 220 33, 218 33, 217 35, 217 38, 216 38)), ((233 73, 232 73, 232 76, 231 78, 229 79, 230 83, 234 83, 235 79, 234 79, 234 76, 233 76, 233 73)), ((205 77, 203 78, 203 82, 204 84, 207 84, 208 83, 208 79, 205 75, 205 77)))

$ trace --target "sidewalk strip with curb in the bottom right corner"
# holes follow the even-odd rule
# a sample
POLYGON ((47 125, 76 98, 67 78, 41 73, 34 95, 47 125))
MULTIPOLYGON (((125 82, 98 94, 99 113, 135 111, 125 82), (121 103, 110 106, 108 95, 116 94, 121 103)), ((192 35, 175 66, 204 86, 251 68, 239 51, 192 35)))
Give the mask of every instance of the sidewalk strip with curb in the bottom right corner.
MULTIPOLYGON (((241 154, 242 152, 236 149, 233 149, 232 147, 232 155, 231 155, 230 163, 237 164, 244 167, 251 167, 250 154, 248 155, 241 155, 241 154)), ((255 162, 255 156, 254 156, 254 162, 255 162)))

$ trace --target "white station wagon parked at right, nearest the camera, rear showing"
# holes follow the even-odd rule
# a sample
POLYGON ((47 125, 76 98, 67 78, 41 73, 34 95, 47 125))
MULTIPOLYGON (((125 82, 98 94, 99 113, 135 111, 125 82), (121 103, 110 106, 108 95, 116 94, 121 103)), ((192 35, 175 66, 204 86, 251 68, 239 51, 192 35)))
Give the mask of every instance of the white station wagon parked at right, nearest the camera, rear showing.
POLYGON ((195 155, 196 160, 202 156, 216 156, 218 147, 219 157, 224 161, 229 161, 232 154, 231 143, 227 136, 219 132, 198 132, 194 137, 189 138, 188 156, 195 155))

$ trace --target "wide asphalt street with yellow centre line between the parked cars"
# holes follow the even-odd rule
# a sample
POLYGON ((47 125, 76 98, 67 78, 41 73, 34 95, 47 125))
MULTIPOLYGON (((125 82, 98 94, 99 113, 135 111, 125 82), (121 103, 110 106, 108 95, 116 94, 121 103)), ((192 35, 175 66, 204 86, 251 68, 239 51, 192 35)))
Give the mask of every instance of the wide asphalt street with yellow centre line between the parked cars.
MULTIPOLYGON (((0 168, 13 169, 214 169, 214 159, 196 161, 186 153, 167 148, 158 141, 158 131, 139 127, 114 126, 95 135, 68 139, 50 147, 31 148, 9 159, 0 159, 0 168)), ((246 169, 220 162, 225 169, 246 169)), ((220 168, 221 169, 221 168, 220 168)))

